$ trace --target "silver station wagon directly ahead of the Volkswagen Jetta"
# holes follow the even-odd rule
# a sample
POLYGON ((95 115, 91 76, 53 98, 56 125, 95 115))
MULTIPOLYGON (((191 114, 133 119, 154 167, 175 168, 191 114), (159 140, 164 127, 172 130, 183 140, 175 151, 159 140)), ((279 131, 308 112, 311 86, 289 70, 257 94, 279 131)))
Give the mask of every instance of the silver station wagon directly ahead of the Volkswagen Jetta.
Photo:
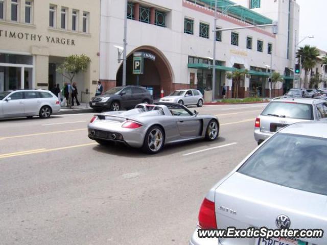
MULTIPOLYGON (((327 100, 307 98, 283 98, 271 101, 256 117, 254 138, 260 144, 279 129, 299 121, 327 118, 327 100)), ((326 120, 327 121, 327 120, 326 120)))

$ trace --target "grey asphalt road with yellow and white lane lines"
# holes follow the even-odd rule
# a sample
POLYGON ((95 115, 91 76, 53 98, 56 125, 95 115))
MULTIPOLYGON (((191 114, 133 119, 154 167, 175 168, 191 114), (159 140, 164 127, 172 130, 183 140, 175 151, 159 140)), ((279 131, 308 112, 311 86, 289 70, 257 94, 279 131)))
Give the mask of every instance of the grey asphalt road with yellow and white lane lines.
POLYGON ((206 192, 255 148, 264 106, 194 108, 218 115, 219 139, 154 156, 88 139, 92 114, 0 121, 0 244, 188 244, 206 192))

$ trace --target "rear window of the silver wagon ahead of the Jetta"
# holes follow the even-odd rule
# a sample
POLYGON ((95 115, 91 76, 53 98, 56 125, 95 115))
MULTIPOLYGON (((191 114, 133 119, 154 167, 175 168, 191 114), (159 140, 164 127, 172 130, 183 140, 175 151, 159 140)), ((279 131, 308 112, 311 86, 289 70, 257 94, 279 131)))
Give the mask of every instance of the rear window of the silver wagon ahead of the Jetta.
POLYGON ((261 115, 313 120, 312 105, 294 102, 271 102, 261 115))

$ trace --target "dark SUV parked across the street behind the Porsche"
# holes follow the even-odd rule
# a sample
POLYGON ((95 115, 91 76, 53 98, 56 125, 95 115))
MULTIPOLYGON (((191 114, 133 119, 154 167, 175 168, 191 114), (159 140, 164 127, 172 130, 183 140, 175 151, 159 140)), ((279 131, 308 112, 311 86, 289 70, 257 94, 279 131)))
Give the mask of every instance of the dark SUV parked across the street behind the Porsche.
POLYGON ((123 108, 133 108, 140 103, 153 103, 150 92, 141 86, 111 88, 102 95, 92 97, 89 102, 90 107, 95 111, 105 109, 119 111, 123 108))

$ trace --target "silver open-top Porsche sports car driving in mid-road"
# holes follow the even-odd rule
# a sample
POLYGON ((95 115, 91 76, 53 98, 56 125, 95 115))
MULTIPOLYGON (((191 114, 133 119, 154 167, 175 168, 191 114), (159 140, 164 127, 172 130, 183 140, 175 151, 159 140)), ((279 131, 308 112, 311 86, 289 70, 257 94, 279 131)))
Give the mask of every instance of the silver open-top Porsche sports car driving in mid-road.
POLYGON ((175 103, 138 104, 128 111, 96 114, 88 124, 88 137, 100 144, 122 142, 149 154, 166 144, 215 140, 218 135, 216 116, 198 115, 175 103))

